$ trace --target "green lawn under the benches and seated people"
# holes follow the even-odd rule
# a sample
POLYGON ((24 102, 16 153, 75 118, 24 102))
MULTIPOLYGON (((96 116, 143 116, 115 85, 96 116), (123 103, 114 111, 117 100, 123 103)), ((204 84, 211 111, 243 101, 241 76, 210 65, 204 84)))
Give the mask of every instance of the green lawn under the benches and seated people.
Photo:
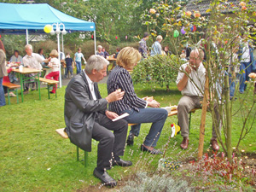
MULTIPOLYGON (((102 97, 107 96, 106 84, 99 84, 99 87, 102 97)), ((162 107, 169 106, 170 103, 177 105, 181 97, 175 84, 170 86, 169 92, 160 87, 155 87, 152 92, 150 87, 143 84, 136 84, 135 90, 141 97, 154 96, 162 107)), ((83 163, 76 161, 76 147, 55 133, 55 129, 65 127, 64 94, 65 87, 62 87, 58 89, 58 97, 51 96, 49 100, 47 89, 42 88, 41 101, 38 100, 38 92, 32 91, 24 96, 23 103, 15 104, 14 97, 11 98, 11 105, 0 108, 0 191, 73 191, 86 190, 89 186, 92 186, 90 190, 98 189, 100 182, 92 175, 96 166, 96 141, 92 142, 89 166, 84 168, 83 163)), ((235 108, 238 108, 236 103, 235 108)), ((165 148, 171 134, 171 123, 177 123, 177 116, 166 120, 157 148, 165 148)), ((185 160, 189 156, 196 156, 200 123, 199 110, 192 115, 189 150, 179 148, 182 137, 177 135, 170 141, 167 159, 185 160)), ((238 140, 240 126, 241 118, 236 114, 233 118, 234 143, 238 140)), ((155 171, 160 155, 144 154, 139 149, 149 127, 150 124, 143 124, 134 146, 125 148, 124 159, 132 160, 134 166, 114 167, 109 171, 115 179, 125 181, 139 169, 155 171)), ((245 149, 247 153, 256 152, 255 134, 256 130, 253 129, 241 142, 241 149, 245 149)), ((207 113, 204 151, 209 148, 211 136, 212 119, 210 113, 207 113)), ((82 156, 80 155, 80 159, 82 156)), ((121 183, 119 181, 119 185, 121 183)))

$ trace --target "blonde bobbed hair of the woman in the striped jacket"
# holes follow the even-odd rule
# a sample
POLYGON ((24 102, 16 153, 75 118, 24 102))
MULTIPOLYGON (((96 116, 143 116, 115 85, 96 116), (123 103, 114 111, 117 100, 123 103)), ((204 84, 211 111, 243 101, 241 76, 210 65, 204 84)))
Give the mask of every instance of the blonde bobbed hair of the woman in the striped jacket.
POLYGON ((134 66, 137 61, 141 60, 141 54, 137 49, 132 47, 125 47, 120 50, 119 55, 117 57, 116 63, 120 67, 128 67, 134 66))

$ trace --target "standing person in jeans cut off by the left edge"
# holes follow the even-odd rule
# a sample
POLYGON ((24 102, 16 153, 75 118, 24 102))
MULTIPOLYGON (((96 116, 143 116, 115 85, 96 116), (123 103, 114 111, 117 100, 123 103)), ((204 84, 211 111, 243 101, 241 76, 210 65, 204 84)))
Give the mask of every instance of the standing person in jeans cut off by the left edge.
POLYGON ((3 92, 3 77, 7 76, 6 71, 6 55, 5 55, 5 49, 3 46, 3 42, 0 40, 0 107, 4 106, 5 103, 5 97, 3 92))

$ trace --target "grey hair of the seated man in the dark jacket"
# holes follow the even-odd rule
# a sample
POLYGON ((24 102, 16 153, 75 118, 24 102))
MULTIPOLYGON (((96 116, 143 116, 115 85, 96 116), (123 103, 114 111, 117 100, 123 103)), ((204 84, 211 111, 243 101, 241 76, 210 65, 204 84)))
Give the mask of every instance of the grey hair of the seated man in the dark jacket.
POLYGON ((102 70, 105 65, 108 66, 109 61, 106 60, 104 57, 100 55, 91 55, 89 59, 87 60, 87 64, 85 65, 85 72, 86 73, 91 73, 92 69, 96 69, 97 71, 102 70))

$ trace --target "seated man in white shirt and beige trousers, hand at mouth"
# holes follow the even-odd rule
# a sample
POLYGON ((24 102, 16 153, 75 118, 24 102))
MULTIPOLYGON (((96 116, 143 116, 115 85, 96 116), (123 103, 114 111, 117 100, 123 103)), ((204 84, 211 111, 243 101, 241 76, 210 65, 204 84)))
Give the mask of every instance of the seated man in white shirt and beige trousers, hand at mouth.
MULTIPOLYGON (((206 82, 206 68, 202 61, 204 53, 201 49, 194 49, 190 52, 189 62, 183 64, 179 73, 177 74, 177 89, 182 92, 182 97, 177 104, 177 119, 181 128, 181 136, 183 142, 180 147, 187 149, 189 146, 189 111, 193 108, 201 108, 201 101, 206 82), (183 73, 186 71, 187 74, 183 73), (192 81, 192 80, 193 81, 192 81)), ((217 118, 216 125, 219 122, 218 109, 214 108, 215 116, 217 118)), ((212 124, 212 149, 218 151, 217 134, 212 124)))

